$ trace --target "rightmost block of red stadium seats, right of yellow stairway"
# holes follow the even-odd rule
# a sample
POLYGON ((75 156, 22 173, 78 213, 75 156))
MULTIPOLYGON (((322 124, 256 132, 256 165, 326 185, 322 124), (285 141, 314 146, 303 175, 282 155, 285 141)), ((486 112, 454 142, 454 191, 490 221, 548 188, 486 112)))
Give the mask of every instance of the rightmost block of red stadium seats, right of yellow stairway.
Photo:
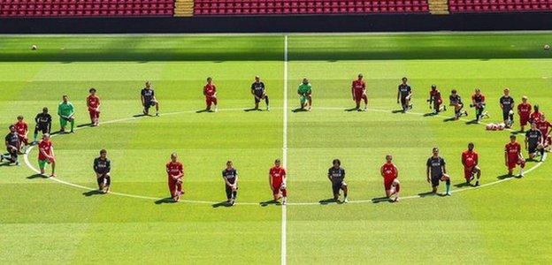
POLYGON ((451 13, 552 11, 552 0, 449 0, 451 13))

